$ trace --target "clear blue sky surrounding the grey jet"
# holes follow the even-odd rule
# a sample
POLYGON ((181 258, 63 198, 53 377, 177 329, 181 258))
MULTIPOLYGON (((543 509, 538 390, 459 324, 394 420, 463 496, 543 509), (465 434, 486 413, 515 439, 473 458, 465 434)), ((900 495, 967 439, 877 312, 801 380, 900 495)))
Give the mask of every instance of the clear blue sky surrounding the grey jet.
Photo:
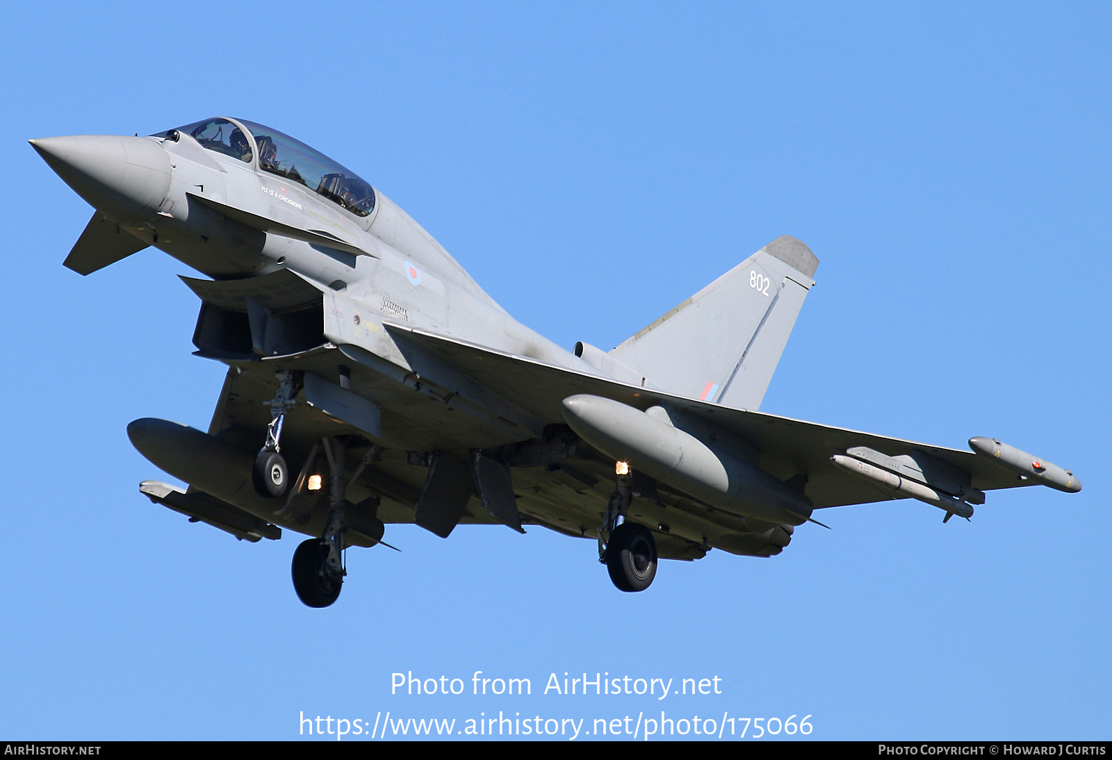
MULTIPOLYGON (((1109 738, 1112 10, 1098 3, 43 3, 0 30, 0 736, 295 739, 373 721, 811 714, 823 739, 1109 738), (61 267, 90 209, 28 138, 271 124, 363 174, 510 313, 610 347, 780 234, 822 261, 765 411, 964 448, 1076 496, 830 510, 770 560, 614 590, 543 529, 390 527, 339 602, 297 538, 150 504, 126 424, 203 428, 186 268, 61 267), (393 672, 534 694, 390 694, 393 672), (558 698, 549 673, 722 679, 558 698), (686 701, 685 701, 686 700, 686 701), (674 711, 674 712, 673 712, 674 711)), ((593 677, 593 676, 592 676, 593 677)), ((468 689, 470 687, 468 686, 468 689)), ((588 729, 589 730, 589 729, 588 729)), ((688 734, 694 738, 694 734, 688 734)), ((702 737, 699 737, 702 738, 702 737)))

